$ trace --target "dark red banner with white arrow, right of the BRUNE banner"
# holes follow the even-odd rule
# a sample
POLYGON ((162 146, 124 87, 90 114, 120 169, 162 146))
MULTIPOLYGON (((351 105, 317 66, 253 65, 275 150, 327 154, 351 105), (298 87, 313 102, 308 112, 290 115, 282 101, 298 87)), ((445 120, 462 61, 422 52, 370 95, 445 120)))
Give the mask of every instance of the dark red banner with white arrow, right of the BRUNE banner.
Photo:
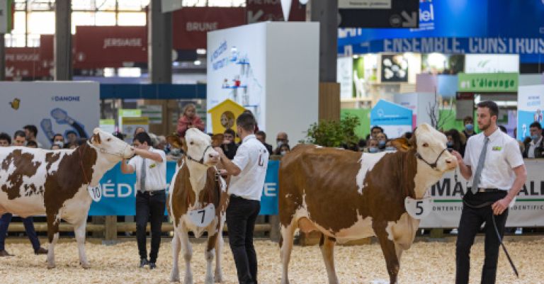
MULTIPOLYGON (((281 9, 280 0, 247 0, 246 11, 247 23, 283 21, 283 11, 281 9)), ((293 0, 291 3, 289 21, 306 21, 306 6, 300 4, 298 0, 293 0)))

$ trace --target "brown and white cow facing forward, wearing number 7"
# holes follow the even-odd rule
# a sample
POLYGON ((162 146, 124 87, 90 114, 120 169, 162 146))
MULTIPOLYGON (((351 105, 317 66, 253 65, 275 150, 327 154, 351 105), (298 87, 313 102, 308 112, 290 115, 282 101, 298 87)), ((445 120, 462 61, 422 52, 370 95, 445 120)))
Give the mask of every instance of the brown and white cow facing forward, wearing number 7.
MULTIPOLYGON (((219 138, 222 140, 222 138, 219 138)), ((177 139, 171 144, 176 144, 177 139)), ((185 284, 193 283, 191 271, 191 257, 193 251, 188 239, 191 231, 196 237, 203 232, 208 232, 208 246, 205 249, 207 262, 205 283, 222 282, 221 251, 223 246, 222 229, 225 223, 225 210, 227 210, 228 195, 227 183, 217 174, 216 165, 219 162, 219 154, 212 147, 212 139, 209 135, 191 128, 187 130, 183 149, 186 156, 178 161, 176 173, 172 177, 169 188, 168 211, 174 222, 174 239, 172 239, 172 253, 174 263, 170 280, 179 281, 179 252, 183 247, 183 259, 186 263, 185 284), (205 208, 210 203, 215 207, 210 217, 212 221, 204 227, 199 227, 191 221, 189 215, 196 212, 198 216, 206 214, 205 208), (215 255, 215 277, 212 275, 212 260, 215 255)))

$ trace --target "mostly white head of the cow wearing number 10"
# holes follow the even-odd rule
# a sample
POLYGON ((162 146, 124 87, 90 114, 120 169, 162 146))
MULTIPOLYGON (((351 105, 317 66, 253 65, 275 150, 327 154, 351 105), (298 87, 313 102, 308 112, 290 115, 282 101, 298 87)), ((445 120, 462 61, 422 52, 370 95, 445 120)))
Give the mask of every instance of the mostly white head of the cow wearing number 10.
POLYGON ((129 144, 98 127, 94 129, 89 144, 112 162, 130 159, 130 157, 134 156, 134 149, 129 144))

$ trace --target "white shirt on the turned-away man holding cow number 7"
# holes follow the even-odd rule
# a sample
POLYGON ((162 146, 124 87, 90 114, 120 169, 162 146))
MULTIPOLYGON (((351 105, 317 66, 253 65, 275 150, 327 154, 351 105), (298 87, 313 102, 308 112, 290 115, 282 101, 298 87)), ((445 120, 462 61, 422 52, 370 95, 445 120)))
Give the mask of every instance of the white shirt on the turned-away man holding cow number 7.
POLYGON ((232 176, 229 194, 248 200, 261 200, 264 178, 268 168, 268 150, 255 135, 248 135, 239 145, 232 163, 240 170, 238 176, 232 176))

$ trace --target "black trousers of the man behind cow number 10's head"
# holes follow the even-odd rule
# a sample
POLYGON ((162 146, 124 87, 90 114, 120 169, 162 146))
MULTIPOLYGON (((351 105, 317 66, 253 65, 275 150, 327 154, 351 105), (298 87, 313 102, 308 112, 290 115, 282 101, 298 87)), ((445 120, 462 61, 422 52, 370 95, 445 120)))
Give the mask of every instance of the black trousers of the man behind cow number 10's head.
POLYGON ((149 193, 136 193, 136 239, 140 259, 147 259, 145 246, 147 234, 145 227, 147 221, 151 222, 151 252, 149 262, 157 262, 159 246, 161 245, 161 227, 164 219, 164 206, 166 193, 161 191, 150 195, 149 193))

